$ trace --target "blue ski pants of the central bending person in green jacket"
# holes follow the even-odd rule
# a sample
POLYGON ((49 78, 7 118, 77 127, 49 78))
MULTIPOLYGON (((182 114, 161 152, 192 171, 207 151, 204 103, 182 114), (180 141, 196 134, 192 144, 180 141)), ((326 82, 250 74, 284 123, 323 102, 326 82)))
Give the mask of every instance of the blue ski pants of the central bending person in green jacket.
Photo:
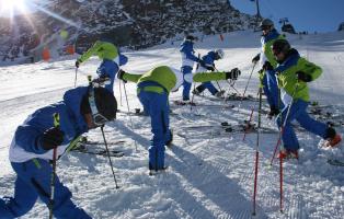
POLYGON ((169 95, 165 91, 159 93, 151 91, 151 88, 161 87, 142 85, 140 83, 138 97, 144 105, 145 113, 148 114, 151 119, 151 132, 153 134, 153 137, 151 139, 151 145, 148 150, 149 169, 161 170, 164 168, 164 146, 165 142, 169 141, 172 137, 169 129, 169 95))

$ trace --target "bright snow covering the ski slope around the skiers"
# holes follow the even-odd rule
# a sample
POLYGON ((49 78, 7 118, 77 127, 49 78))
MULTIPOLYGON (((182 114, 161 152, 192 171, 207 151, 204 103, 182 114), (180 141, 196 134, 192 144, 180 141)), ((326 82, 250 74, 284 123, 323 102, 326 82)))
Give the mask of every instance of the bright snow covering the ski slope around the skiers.
MULTIPOLYGON (((242 76, 234 88, 243 92, 252 69, 251 59, 259 51, 260 33, 246 31, 223 36, 223 42, 218 35, 204 37, 196 44, 197 53, 204 55, 209 49, 222 48, 226 56, 218 61, 217 68, 240 68, 242 76)), ((324 70, 322 77, 310 84, 311 100, 341 114, 344 110, 344 33, 287 37, 301 55, 324 70)), ((124 69, 141 73, 158 65, 179 68, 177 45, 179 42, 174 45, 168 42, 150 49, 127 51, 129 62, 124 69)), ((1 196, 13 195, 15 174, 8 160, 8 149, 16 126, 36 108, 61 100, 64 92, 73 87, 74 60, 76 57, 0 68, 1 196)), ((99 64, 94 57, 81 66, 78 84, 87 84, 85 76, 94 74, 99 64)), ((254 73, 249 94, 255 95, 257 83, 254 73)), ((116 81, 115 94, 121 103, 118 85, 116 81)), ((228 90, 225 81, 220 85, 234 92, 228 90)), ((135 84, 127 83, 126 91, 130 111, 141 107, 135 84)), ((181 91, 170 95, 171 102, 180 99, 181 91)), ((248 134, 242 141, 242 134, 225 134, 221 128, 208 126, 248 119, 254 102, 243 102, 239 110, 221 108, 222 102, 208 97, 195 96, 195 102, 199 106, 192 111, 190 106, 171 106, 177 115, 170 116, 174 146, 167 149, 169 169, 165 173, 148 175, 149 118, 133 116, 131 127, 130 118, 123 113, 104 129, 110 147, 125 152, 123 158, 113 158, 118 189, 107 158, 76 152, 62 157, 57 172, 71 189, 73 200, 93 218, 251 218, 256 135, 248 134), (205 104, 220 106, 202 106, 205 104), (187 128, 190 126, 199 128, 187 128), (111 145, 118 140, 125 142, 111 145)), ((238 106, 239 102, 229 104, 238 106)), ((127 111, 124 96, 119 108, 127 111)), ((257 119, 255 114, 254 119, 257 119)), ((275 127, 265 116, 262 125, 275 127)), ((342 126, 337 130, 344 132, 342 126)), ((90 131, 88 137, 102 141, 99 129, 90 131)), ((257 216, 254 218, 343 218, 344 171, 326 163, 328 158, 344 160, 343 143, 337 149, 323 149, 319 137, 306 131, 298 131, 298 137, 302 147, 300 160, 284 164, 285 199, 284 214, 280 214, 278 162, 275 160, 273 166, 268 165, 278 134, 261 135, 257 216)), ((22 218, 46 218, 47 215, 46 206, 39 200, 22 218)))

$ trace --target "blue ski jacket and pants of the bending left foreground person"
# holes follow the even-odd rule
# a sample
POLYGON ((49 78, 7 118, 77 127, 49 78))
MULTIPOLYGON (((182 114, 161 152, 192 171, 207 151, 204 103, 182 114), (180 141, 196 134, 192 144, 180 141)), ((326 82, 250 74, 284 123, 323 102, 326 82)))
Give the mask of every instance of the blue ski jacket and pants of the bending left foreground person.
MULTIPOLYGON (((10 146, 10 161, 16 173, 14 197, 0 198, 1 219, 25 215, 38 197, 46 205, 49 204, 53 150, 42 148, 41 137, 45 130, 54 127, 55 113, 59 114, 60 129, 65 132, 64 142, 57 148, 58 157, 76 137, 88 131, 88 125, 80 114, 80 103, 87 92, 87 87, 67 91, 64 101, 37 110, 16 128, 10 146)), ((91 218, 71 201, 71 192, 57 175, 55 178, 54 216, 64 219, 91 218)))

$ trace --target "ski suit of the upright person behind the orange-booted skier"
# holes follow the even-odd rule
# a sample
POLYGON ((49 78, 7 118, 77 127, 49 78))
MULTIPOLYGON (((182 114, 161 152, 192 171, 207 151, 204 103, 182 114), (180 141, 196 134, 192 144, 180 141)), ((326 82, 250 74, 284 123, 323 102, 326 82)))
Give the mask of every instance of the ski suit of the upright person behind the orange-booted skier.
MULTIPOLYGON (((274 58, 271 46, 278 38, 284 38, 275 28, 272 30, 266 36, 262 36, 261 44, 262 50, 260 55, 261 66, 268 61, 273 68, 276 68, 277 61, 274 58)), ((275 72, 273 70, 265 70, 260 73, 261 83, 263 84, 263 90, 267 99, 267 103, 271 107, 283 108, 279 101, 278 84, 275 72)))

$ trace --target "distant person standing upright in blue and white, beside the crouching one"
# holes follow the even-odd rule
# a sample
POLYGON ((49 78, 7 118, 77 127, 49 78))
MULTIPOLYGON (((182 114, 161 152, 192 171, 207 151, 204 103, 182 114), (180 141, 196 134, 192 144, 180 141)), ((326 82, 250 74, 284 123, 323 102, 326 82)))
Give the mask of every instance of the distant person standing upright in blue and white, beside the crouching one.
MULTIPOLYGON (((204 61, 199 58, 197 58, 194 54, 194 42, 197 41, 196 37, 192 35, 187 35, 183 43, 181 44, 180 51, 182 55, 182 68, 181 71, 183 76, 187 76, 188 73, 192 73, 194 61, 200 64, 200 66, 204 66, 204 61)), ((183 102, 188 103, 190 102, 190 90, 191 90, 191 83, 187 82, 187 80, 184 80, 183 82, 183 102)))

